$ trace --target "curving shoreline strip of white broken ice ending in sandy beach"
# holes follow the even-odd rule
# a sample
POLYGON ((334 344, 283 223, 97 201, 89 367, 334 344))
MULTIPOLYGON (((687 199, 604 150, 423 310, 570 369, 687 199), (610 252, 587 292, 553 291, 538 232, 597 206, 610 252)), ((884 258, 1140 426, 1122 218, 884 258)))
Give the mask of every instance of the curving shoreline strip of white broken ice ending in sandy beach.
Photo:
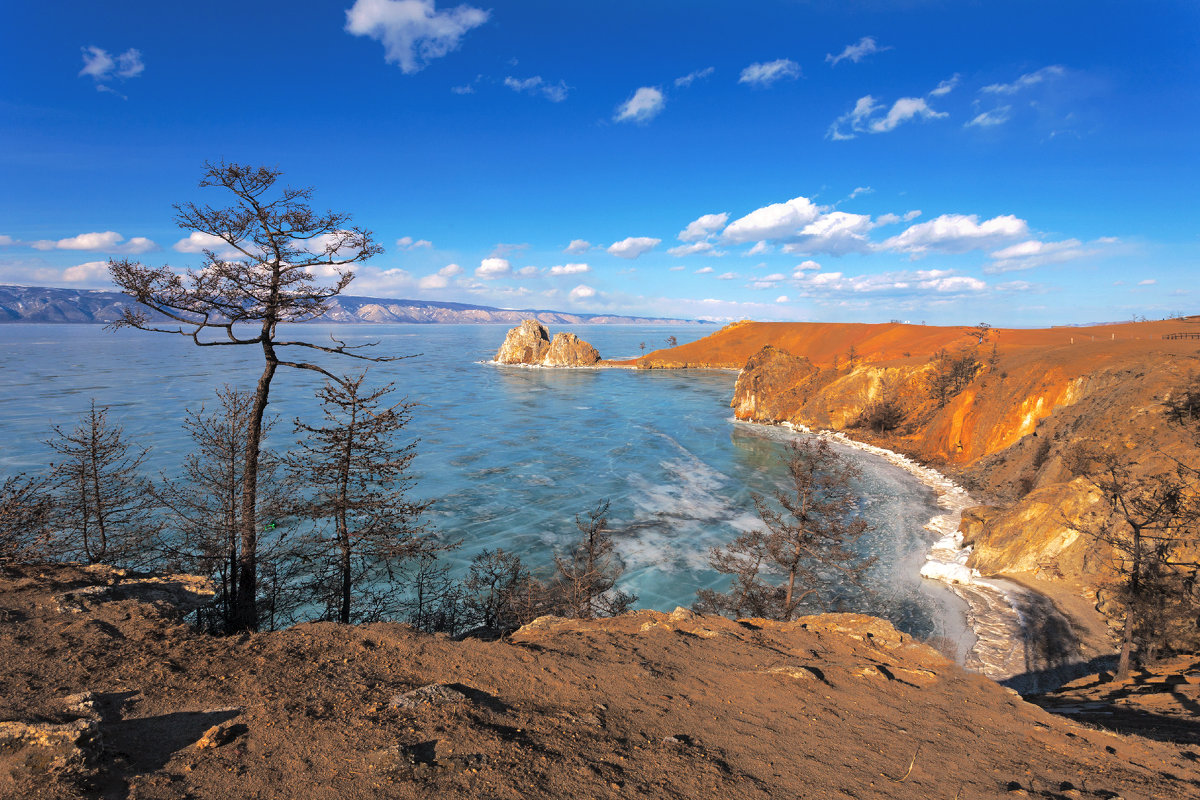
MULTIPOLYGON (((920 576, 944 583, 967 603, 967 625, 976 642, 964 666, 1019 691, 1044 691, 1057 685, 1058 673, 1085 661, 1072 619, 1054 599, 1037 589, 1001 577, 983 577, 966 565, 971 547, 959 533, 962 511, 977 505, 966 489, 946 475, 886 447, 856 441, 836 431, 812 431, 792 422, 762 423, 838 441, 899 467, 934 489, 944 513, 932 517, 925 529, 938 534, 925 557, 920 576)), ((1091 636, 1088 638, 1092 638, 1091 636)))

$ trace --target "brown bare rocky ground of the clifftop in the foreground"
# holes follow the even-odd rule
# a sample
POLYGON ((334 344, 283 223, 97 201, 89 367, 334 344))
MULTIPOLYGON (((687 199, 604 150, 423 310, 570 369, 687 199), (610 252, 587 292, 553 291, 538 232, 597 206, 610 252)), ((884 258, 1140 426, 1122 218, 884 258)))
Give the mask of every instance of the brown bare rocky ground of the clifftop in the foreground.
POLYGON ((0 796, 1200 796, 1200 746, 1176 735, 1195 733, 1187 670, 1144 715, 1176 734, 1127 736, 868 616, 215 638, 179 618, 204 599, 181 577, 0 571, 0 796))

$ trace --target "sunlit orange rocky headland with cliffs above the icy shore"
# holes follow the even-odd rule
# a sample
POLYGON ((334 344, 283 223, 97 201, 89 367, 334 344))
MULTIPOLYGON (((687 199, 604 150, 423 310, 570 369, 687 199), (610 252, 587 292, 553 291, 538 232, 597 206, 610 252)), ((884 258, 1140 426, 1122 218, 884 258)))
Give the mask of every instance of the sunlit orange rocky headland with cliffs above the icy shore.
POLYGON ((956 329, 750 323, 647 360, 720 362, 757 345, 731 403, 739 419, 851 429, 937 465, 994 504, 968 521, 973 566, 1094 585, 1108 559, 1069 521, 1099 498, 1072 471, 1070 450, 1091 440, 1147 474, 1170 470, 1171 458, 1200 463, 1163 404, 1200 371, 1194 342, 1162 338, 1189 325, 998 331, 996 350, 978 349, 978 374, 944 407, 930 391, 932 357, 970 344, 956 329), (884 407, 892 422, 872 431, 884 407))

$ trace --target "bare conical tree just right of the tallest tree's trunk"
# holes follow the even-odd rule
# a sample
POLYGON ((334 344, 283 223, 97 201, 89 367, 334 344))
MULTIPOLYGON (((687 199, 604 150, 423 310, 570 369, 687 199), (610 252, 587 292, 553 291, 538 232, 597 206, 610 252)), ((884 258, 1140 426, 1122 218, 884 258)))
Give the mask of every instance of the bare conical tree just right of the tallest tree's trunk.
POLYGON ((307 489, 301 513, 317 522, 307 548, 312 590, 323 618, 341 622, 388 616, 401 600, 402 564, 446 549, 420 522, 430 503, 409 497, 416 443, 396 440, 413 404, 386 405, 395 386, 371 391, 365 379, 330 380, 317 392, 325 425, 296 420, 296 432, 307 435, 287 459, 294 482, 307 489), (356 599, 364 601, 358 609, 356 599))

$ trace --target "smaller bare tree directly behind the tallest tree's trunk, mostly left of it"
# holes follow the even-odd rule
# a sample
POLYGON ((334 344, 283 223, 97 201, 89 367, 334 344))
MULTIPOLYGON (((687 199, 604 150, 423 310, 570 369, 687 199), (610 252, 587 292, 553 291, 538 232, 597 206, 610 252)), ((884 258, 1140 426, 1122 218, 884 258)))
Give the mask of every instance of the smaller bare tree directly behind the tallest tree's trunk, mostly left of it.
MULTIPOLYGON (((155 489, 167 510, 174 535, 162 542, 166 557, 179 569, 210 575, 217 585, 216 620, 211 627, 238 627, 238 570, 241 564, 241 486, 246 473, 246 439, 254 408, 252 392, 233 386, 216 390, 216 407, 187 410, 184 428, 193 450, 184 458, 176 480, 163 479, 155 489)), ((262 437, 274 420, 265 419, 262 437)), ((283 530, 290 493, 280 474, 280 459, 259 447, 254 516, 259 521, 259 563, 282 558, 283 530)), ((276 569, 272 575, 277 575, 276 569)))

